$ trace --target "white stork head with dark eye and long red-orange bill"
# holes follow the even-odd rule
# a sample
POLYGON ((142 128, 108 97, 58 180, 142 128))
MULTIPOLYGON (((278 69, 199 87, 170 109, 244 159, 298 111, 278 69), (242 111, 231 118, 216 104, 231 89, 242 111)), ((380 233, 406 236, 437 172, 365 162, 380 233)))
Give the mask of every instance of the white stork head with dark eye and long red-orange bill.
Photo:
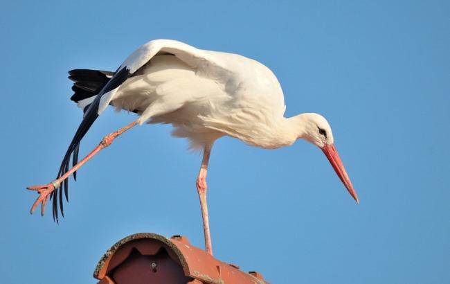
POLYGON ((350 177, 348 177, 341 158, 334 147, 333 133, 328 121, 320 114, 300 114, 299 118, 302 125, 302 132, 299 138, 303 138, 321 148, 345 188, 347 188, 354 200, 359 203, 358 195, 354 191, 350 177))

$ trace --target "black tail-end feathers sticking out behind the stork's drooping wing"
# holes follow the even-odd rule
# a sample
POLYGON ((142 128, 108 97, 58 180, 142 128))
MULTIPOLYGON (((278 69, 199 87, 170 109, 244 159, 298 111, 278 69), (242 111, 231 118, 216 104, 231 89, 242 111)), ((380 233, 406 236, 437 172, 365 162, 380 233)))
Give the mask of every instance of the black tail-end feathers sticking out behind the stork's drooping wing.
POLYGON ((73 69, 69 71, 69 79, 73 81, 72 91, 75 92, 71 100, 78 103, 78 107, 84 111, 113 75, 114 72, 100 70, 73 69))

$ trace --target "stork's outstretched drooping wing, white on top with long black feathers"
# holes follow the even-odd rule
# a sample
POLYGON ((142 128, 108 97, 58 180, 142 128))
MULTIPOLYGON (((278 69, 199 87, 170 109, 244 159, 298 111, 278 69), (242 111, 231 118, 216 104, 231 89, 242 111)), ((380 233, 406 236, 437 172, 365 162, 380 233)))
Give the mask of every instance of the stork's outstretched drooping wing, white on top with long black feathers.
MULTIPOLYGON (((214 70, 224 70, 223 62, 219 62, 217 57, 212 56, 207 51, 202 51, 188 44, 177 42, 170 39, 156 39, 151 42, 147 42, 143 46, 134 51, 127 59, 120 65, 117 71, 112 76, 111 80, 107 82, 96 98, 92 101, 89 107, 84 108, 84 117, 75 132, 73 139, 69 145, 69 148, 62 159, 60 170, 57 174, 57 179, 62 177, 67 171, 69 171, 69 164, 72 156, 72 164, 78 162, 78 149, 80 147, 80 141, 87 133, 97 117, 102 111, 109 105, 111 100, 114 99, 114 94, 119 89, 120 85, 128 78, 134 75, 142 66, 147 64, 152 57, 158 53, 170 53, 177 56, 181 61, 185 62, 189 66, 195 69, 201 68, 201 66, 208 66, 210 72, 214 70)), ((74 179, 76 179, 75 172, 73 173, 74 179)), ((53 198, 53 219, 58 220, 58 205, 62 215, 64 216, 63 208, 63 191, 66 200, 68 197, 69 179, 65 179, 59 190, 54 190, 51 197, 53 198), (59 195, 59 196, 58 196, 59 195)))

